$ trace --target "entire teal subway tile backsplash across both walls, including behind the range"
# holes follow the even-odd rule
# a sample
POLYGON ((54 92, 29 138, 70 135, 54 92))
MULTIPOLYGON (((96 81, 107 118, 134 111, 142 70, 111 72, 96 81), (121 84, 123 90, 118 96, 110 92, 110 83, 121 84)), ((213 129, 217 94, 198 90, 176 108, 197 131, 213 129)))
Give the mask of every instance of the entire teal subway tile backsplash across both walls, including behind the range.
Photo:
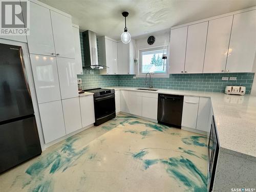
MULTIPOLYGON (((83 41, 80 33, 82 63, 83 41)), ((191 90, 204 92, 224 92, 226 86, 245 86, 250 94, 254 73, 207 73, 207 74, 170 74, 169 78, 152 78, 152 85, 159 89, 191 90), (237 77, 237 80, 221 80, 222 77, 237 77)), ((77 78, 82 79, 82 89, 113 86, 147 87, 145 78, 134 75, 100 75, 99 70, 85 70, 77 78)))

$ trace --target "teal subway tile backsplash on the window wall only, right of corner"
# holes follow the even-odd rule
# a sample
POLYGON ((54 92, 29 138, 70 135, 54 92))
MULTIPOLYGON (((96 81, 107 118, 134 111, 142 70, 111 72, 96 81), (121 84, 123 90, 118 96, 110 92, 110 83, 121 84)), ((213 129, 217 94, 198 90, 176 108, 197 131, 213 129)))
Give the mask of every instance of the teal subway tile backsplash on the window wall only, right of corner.
MULTIPOLYGON (((169 78, 152 78, 153 88, 224 92, 226 86, 245 86, 250 94, 254 73, 207 73, 207 74, 170 74, 169 78), (222 77, 237 77, 237 80, 221 80, 222 77)), ((118 75, 118 86, 148 87, 145 78, 133 75, 118 75)))

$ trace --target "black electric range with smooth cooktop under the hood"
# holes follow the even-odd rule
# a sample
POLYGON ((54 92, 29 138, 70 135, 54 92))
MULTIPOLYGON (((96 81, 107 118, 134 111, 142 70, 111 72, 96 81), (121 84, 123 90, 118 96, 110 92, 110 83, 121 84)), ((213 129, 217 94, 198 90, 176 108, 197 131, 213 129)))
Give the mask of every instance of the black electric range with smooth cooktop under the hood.
POLYGON ((95 123, 98 126, 116 117, 116 103, 114 89, 89 89, 84 92, 94 93, 95 123))

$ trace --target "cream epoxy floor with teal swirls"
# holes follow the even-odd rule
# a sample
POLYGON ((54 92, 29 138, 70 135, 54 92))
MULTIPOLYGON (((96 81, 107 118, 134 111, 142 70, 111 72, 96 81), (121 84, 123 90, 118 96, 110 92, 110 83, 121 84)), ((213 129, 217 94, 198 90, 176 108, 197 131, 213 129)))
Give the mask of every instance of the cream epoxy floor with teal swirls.
POLYGON ((207 191, 207 138, 119 115, 0 175, 0 191, 207 191))

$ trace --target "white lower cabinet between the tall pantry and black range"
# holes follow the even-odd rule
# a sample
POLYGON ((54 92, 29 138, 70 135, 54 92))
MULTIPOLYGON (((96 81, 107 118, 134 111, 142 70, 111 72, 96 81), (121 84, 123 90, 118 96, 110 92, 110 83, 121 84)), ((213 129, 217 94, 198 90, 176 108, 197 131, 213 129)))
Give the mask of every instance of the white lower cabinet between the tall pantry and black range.
POLYGON ((95 122, 93 95, 79 97, 82 127, 95 122))

